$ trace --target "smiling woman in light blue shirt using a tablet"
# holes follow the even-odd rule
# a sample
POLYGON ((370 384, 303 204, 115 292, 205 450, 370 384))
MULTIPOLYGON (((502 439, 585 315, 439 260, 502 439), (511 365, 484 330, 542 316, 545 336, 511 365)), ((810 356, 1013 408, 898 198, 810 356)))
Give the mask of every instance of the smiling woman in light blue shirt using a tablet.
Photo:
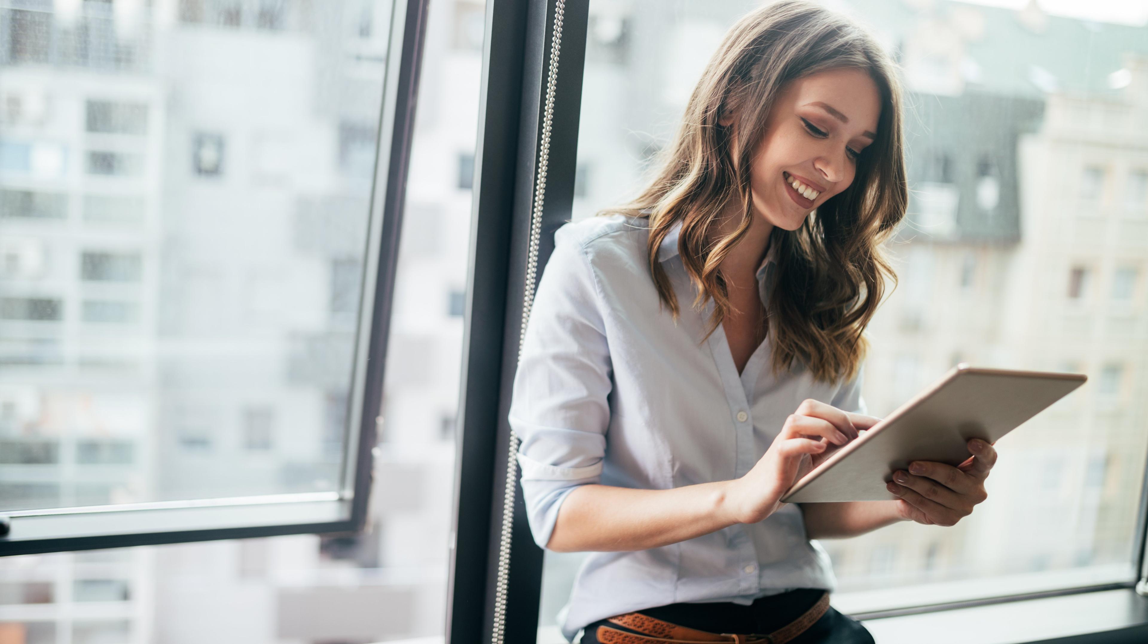
POLYGON ((862 333, 906 208, 900 114, 871 37, 815 5, 763 7, 633 207, 557 233, 510 420, 535 540, 595 552, 568 638, 871 642, 828 608, 809 540, 951 526, 985 499, 995 452, 972 441, 960 467, 895 473, 897 499, 778 501, 877 420, 862 333))

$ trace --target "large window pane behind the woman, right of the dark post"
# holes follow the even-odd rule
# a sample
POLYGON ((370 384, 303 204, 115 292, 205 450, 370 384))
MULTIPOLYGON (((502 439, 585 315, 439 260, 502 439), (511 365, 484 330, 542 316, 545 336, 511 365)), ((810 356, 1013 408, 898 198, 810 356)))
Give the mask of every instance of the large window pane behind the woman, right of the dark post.
MULTIPOLYGON (((1000 442, 990 499, 957 526, 824 542, 835 602, 868 610, 1133 579, 1148 227, 1142 152, 1111 133, 1148 118, 1148 15, 1117 2, 1060 3, 1072 17, 1019 1, 827 3, 895 53, 912 106, 912 205, 889 245, 900 286, 869 328, 870 413, 957 362, 1089 375, 1000 442)), ((575 219, 645 186, 711 54, 757 5, 591 0, 575 219)), ((582 558, 546 553, 540 641, 560 641, 556 615, 582 558)))

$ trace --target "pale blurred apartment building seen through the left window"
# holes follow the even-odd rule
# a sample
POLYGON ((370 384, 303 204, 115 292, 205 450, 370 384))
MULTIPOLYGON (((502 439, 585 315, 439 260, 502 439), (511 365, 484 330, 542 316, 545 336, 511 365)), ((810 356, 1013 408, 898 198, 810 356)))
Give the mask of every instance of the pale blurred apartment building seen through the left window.
MULTIPOLYGON (((5 507, 334 489, 391 9, 0 5, 5 507)), ((0 642, 441 633, 483 13, 432 8, 370 530, 0 560, 0 642)))

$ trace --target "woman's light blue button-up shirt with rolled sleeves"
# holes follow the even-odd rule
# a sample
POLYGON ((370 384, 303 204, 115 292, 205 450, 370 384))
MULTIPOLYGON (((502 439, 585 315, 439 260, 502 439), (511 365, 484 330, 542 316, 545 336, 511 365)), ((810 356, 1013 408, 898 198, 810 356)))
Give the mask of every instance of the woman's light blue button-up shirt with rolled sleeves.
MULTIPOLYGON (((647 263, 647 220, 622 215, 567 224, 538 284, 510 424, 530 530, 550 541, 558 509, 579 486, 669 489, 744 475, 805 398, 864 412, 860 377, 824 383, 802 365, 777 377, 767 339, 740 374, 724 329, 706 340, 713 303, 695 310, 677 255, 659 248, 681 303, 675 324, 647 263)), ((774 249, 758 269, 768 302, 774 249)), ((736 602, 835 583, 829 557, 805 534, 799 506, 637 552, 597 552, 579 571, 563 634, 611 615, 678 602, 736 602)))

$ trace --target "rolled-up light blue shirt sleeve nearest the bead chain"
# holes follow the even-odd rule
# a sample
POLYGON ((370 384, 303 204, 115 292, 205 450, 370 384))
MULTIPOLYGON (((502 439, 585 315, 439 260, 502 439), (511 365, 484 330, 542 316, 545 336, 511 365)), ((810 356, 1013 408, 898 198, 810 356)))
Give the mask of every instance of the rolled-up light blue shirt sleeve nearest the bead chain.
POLYGON ((585 251, 567 233, 554 235, 538 282, 510 408, 530 532, 543 548, 566 496, 600 480, 610 424, 600 301, 585 251))

